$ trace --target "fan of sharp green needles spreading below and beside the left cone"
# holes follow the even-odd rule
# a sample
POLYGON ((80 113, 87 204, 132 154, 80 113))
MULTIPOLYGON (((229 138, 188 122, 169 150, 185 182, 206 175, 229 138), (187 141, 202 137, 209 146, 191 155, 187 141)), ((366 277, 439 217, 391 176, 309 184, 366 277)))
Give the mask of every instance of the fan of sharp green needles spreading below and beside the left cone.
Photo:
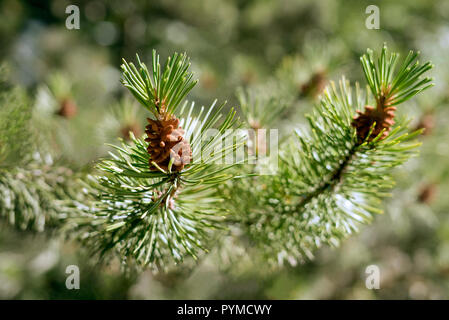
POLYGON ((228 171, 235 164, 216 164, 216 157, 195 160, 211 150, 226 156, 243 143, 237 141, 231 149, 223 149, 222 138, 236 124, 233 110, 219 124, 223 106, 214 102, 207 112, 203 107, 193 116, 194 104, 184 103, 179 115, 193 162, 180 172, 150 171, 143 138, 132 136, 130 143, 113 146, 111 158, 97 166, 100 174, 86 184, 92 201, 81 216, 70 220, 72 230, 78 230, 88 247, 100 255, 113 250, 122 260, 154 270, 166 269, 187 256, 197 259, 206 252, 227 215, 218 205, 222 199, 217 186, 233 178, 228 171), (213 127, 222 135, 201 139, 213 127))

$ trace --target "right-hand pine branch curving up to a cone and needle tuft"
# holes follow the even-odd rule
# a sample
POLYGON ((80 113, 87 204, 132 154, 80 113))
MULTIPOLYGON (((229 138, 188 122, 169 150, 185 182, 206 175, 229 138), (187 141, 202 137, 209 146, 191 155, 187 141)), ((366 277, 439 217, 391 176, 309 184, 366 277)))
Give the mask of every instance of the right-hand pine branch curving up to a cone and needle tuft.
MULTIPOLYGON (((239 194, 253 204, 242 209, 237 202, 241 219, 237 221, 269 261, 295 265, 310 259, 317 247, 338 245, 360 223, 382 212, 381 199, 394 185, 392 168, 415 154, 419 143, 413 138, 420 132, 410 134, 406 122, 393 126, 386 122, 387 116, 369 112, 364 114, 369 121, 357 123, 354 111, 374 99, 382 112, 391 112, 392 103, 397 105, 430 86, 430 80, 420 80, 419 75, 431 66, 409 68, 411 57, 416 57, 411 54, 405 67, 394 74, 396 60, 386 57, 384 48, 377 66, 362 58, 362 65, 369 66, 364 71, 371 96, 362 94, 358 86, 353 96, 344 79, 338 87, 331 83, 307 117, 310 131, 298 132, 296 143, 283 147, 277 176, 254 178, 250 185, 256 187, 250 191, 245 191, 247 183, 233 185, 231 198, 239 194), (385 126, 379 129, 378 122, 385 126)), ((392 120, 391 113, 388 116, 392 120)))

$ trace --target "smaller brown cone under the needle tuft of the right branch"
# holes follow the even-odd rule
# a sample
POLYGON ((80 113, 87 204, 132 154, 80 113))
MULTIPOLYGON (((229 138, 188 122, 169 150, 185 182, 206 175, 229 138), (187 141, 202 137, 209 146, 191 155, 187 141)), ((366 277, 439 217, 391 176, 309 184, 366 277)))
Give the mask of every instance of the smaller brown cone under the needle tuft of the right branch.
POLYGON ((386 138, 391 131, 391 127, 394 125, 394 112, 396 107, 386 106, 374 108, 372 106, 365 106, 365 111, 357 110, 358 115, 354 117, 352 126, 357 130, 357 137, 359 143, 365 141, 372 141, 376 138, 382 130, 382 136, 380 140, 386 138), (371 126, 376 123, 371 135, 368 137, 371 130, 371 126))

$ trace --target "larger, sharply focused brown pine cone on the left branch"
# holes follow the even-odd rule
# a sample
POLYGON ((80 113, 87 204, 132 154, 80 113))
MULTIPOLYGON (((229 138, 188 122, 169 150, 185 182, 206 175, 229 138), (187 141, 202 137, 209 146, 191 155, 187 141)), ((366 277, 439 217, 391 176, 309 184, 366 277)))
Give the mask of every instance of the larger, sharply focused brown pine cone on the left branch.
POLYGON ((147 119, 145 133, 148 142, 147 151, 150 154, 150 169, 157 170, 151 163, 155 162, 164 170, 168 169, 173 158, 172 171, 181 171, 192 159, 189 142, 184 139, 184 130, 179 126, 179 119, 147 119))

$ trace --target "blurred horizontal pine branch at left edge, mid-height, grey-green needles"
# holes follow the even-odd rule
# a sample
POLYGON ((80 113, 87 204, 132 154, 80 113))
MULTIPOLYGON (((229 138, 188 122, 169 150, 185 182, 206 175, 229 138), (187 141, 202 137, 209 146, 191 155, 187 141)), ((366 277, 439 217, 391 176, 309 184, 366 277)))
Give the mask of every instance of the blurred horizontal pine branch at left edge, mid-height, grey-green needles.
POLYGON ((69 199, 79 198, 73 172, 64 167, 30 163, 0 170, 0 216, 21 230, 59 227, 68 215, 69 199))

